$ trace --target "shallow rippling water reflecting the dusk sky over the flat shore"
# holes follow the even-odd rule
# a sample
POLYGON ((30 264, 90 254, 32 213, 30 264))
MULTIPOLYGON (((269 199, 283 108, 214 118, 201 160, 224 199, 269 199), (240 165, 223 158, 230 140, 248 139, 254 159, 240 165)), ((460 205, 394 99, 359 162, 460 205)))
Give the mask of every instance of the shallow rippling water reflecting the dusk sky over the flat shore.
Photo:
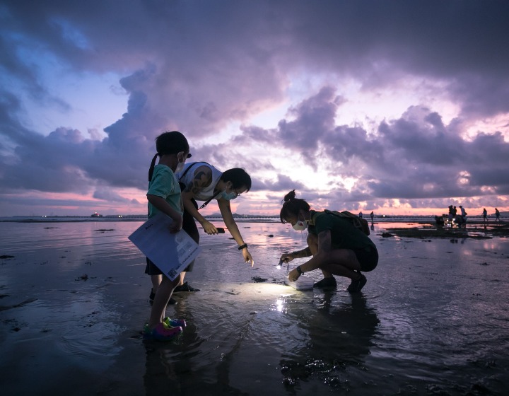
POLYGON ((201 291, 167 310, 188 326, 155 343, 140 336, 150 280, 127 240, 139 225, 0 223, 0 255, 14 256, 0 260, 3 395, 505 394, 505 239, 382 238, 391 225, 375 224, 380 263, 352 296, 340 278, 337 291, 283 286, 279 256, 305 235, 239 223, 254 267, 228 233, 202 234, 187 276, 201 291))

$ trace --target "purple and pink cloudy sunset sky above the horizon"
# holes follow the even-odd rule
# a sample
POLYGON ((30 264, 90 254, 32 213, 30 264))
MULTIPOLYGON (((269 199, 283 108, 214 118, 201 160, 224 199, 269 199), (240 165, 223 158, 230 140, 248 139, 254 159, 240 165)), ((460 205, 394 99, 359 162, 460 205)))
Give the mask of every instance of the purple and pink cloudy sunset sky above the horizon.
MULTIPOLYGON (((508 1, 2 0, 0 216, 144 214, 154 139, 241 214, 509 210, 508 1)), ((217 211, 209 205, 208 212, 217 211)))

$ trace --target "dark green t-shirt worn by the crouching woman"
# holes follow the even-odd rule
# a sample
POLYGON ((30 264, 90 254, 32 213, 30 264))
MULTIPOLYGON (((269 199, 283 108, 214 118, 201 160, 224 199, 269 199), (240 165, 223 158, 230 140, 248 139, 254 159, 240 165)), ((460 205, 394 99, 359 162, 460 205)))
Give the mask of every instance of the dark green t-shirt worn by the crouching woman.
POLYGON ((324 211, 312 211, 311 218, 314 224, 310 228, 310 233, 319 235, 322 231, 330 230, 332 248, 353 250, 376 248, 368 235, 355 228, 348 219, 324 211))

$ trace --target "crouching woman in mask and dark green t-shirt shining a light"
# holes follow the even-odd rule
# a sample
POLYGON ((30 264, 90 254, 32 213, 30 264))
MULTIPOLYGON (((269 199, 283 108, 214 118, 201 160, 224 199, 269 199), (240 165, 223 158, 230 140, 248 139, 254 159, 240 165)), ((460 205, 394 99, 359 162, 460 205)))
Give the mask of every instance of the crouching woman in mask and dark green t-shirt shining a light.
POLYGON ((378 250, 372 240, 353 223, 331 211, 314 211, 304 199, 296 198, 295 190, 284 197, 279 214, 281 223, 291 223, 296 231, 308 228, 308 247, 296 252, 284 253, 281 261, 291 262, 300 257, 312 258, 292 269, 288 274, 296 281, 304 272, 321 269, 329 277, 315 284, 315 287, 335 288, 333 275, 351 279, 350 293, 361 291, 367 279, 361 272, 370 272, 378 264, 378 250))

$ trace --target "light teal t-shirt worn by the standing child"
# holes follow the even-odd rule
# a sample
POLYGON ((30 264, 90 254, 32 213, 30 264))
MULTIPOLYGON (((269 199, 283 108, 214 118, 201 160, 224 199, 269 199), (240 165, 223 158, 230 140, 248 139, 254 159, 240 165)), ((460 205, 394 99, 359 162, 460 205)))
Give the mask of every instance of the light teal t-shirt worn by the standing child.
MULTIPOLYGON (((168 166, 156 165, 154 167, 152 180, 148 183, 148 194, 162 197, 170 204, 172 209, 180 212, 180 214, 184 213, 180 185, 178 184, 177 177, 175 177, 175 173, 168 166)), ((148 202, 148 218, 156 216, 158 212, 159 209, 148 202)))

